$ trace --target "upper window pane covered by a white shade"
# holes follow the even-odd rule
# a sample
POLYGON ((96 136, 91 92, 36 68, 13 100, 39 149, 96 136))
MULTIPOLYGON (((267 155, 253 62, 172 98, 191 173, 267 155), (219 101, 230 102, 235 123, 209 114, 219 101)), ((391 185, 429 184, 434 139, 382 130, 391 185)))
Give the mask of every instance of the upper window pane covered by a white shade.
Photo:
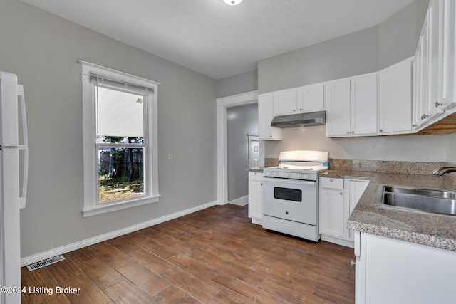
POLYGON ((144 137, 144 96, 103 88, 99 85, 96 94, 97 137, 144 137))

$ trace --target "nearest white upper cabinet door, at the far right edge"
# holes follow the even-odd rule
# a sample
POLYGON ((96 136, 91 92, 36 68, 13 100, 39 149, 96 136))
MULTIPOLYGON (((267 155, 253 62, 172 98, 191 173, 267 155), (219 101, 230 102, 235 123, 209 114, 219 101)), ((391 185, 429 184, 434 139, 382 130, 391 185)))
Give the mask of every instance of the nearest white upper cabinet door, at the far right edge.
POLYGON ((439 100, 442 110, 456 105, 456 2, 443 0, 440 2, 442 11, 442 56, 439 62, 439 100))

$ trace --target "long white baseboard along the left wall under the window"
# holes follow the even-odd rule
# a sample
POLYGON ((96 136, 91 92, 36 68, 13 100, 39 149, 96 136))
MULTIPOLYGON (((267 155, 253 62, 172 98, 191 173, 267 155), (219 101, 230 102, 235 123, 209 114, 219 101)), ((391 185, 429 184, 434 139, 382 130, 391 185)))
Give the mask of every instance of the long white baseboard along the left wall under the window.
POLYGON ((71 252, 71 251, 74 251, 77 249, 81 249, 81 248, 93 245, 95 243, 107 241, 107 240, 113 239, 117 236, 123 236, 124 234, 130 234, 130 232, 138 231, 140 229, 145 229, 147 227, 154 226, 154 225, 163 223, 165 221, 170 221, 171 219, 177 219, 180 216, 192 214, 193 212, 207 209, 209 207, 212 207, 212 206, 215 206, 218 204, 219 204, 218 201, 211 201, 210 203, 207 203, 207 204, 202 204, 199 206, 192 207, 190 209, 185 209, 182 211, 175 212, 173 214, 161 216, 157 219, 152 219, 150 221, 145 221, 143 223, 129 226, 129 227, 126 227, 123 229, 111 231, 111 232, 108 232, 107 234, 100 234, 99 236, 94 236, 93 238, 90 238, 90 239, 85 239, 83 241, 78 241, 76 243, 71 243, 71 244, 61 246, 58 248, 53 248, 51 250, 44 251, 41 253, 36 253, 36 254, 33 254, 33 256, 26 256, 24 258, 21 258, 21 267, 30 265, 31 263, 36 263, 39 261, 46 260, 47 258, 52 258, 53 256, 58 256, 59 254, 64 254, 64 253, 68 253, 68 252, 71 252))

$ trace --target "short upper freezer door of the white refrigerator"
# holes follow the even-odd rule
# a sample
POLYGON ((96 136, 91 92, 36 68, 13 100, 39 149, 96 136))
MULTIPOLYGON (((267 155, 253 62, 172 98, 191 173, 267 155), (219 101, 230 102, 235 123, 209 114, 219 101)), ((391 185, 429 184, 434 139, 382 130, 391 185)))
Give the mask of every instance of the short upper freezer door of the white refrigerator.
POLYGON ((19 145, 17 76, 0 72, 0 145, 19 145))

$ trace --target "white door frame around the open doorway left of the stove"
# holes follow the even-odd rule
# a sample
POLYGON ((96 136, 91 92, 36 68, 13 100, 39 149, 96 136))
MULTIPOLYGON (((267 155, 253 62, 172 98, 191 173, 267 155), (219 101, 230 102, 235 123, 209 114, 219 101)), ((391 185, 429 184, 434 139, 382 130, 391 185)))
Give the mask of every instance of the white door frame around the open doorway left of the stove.
POLYGON ((258 91, 215 99, 217 103, 217 204, 228 203, 227 108, 258 103, 258 91))

